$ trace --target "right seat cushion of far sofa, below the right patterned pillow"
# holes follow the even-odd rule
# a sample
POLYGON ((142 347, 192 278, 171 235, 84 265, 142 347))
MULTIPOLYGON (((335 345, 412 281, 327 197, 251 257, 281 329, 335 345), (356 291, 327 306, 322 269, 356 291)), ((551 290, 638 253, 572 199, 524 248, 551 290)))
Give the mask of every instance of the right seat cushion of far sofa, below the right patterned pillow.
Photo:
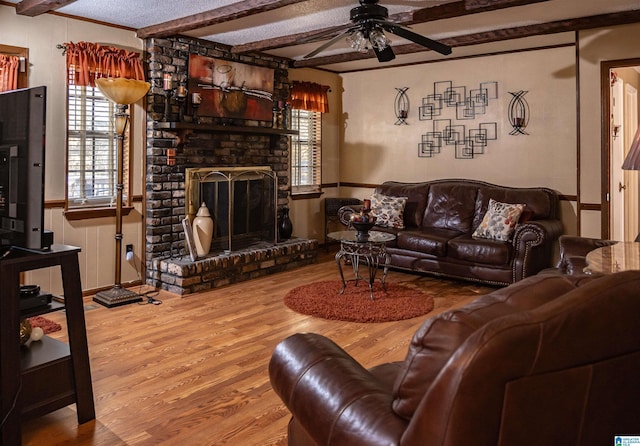
POLYGON ((485 265, 508 265, 511 243, 491 239, 476 239, 468 234, 449 240, 447 255, 451 258, 485 265))

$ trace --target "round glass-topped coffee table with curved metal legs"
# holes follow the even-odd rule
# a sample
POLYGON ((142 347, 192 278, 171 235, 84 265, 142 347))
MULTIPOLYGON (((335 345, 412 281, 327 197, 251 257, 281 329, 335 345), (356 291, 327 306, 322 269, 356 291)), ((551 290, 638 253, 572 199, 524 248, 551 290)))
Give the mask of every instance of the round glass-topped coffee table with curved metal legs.
POLYGON ((360 263, 364 262, 367 265, 369 276, 367 279, 371 300, 373 300, 373 284, 376 280, 376 274, 382 264, 381 283, 386 290, 384 281, 387 277, 387 271, 389 270, 389 263, 391 262, 391 256, 387 253, 386 243, 395 240, 395 235, 387 232, 369 231, 369 236, 362 238, 357 235, 356 231, 337 231, 327 234, 327 237, 340 242, 340 250, 336 253, 336 263, 338 264, 338 271, 340 271, 340 279, 342 279, 342 290, 340 290, 340 294, 344 293, 344 290, 347 288, 347 281, 344 278, 341 262, 345 256, 351 260, 351 266, 353 267, 355 276, 353 280, 356 286, 358 286, 358 281, 364 280, 364 278, 360 276, 360 263))

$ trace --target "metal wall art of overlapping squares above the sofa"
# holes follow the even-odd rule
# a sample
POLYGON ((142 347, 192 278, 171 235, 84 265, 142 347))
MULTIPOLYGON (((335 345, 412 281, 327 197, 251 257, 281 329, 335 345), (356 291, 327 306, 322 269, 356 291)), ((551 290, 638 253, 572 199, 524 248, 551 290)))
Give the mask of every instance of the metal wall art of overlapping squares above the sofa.
POLYGON ((467 129, 454 119, 436 119, 446 109, 455 109, 455 120, 471 120, 487 111, 490 99, 498 98, 497 82, 482 82, 479 88, 455 87, 452 81, 434 82, 433 94, 422 99, 418 110, 421 121, 433 121, 430 132, 422 135, 418 143, 418 156, 431 158, 440 153, 444 145, 453 146, 457 159, 472 159, 484 153, 487 142, 498 139, 495 122, 479 123, 478 128, 467 129))

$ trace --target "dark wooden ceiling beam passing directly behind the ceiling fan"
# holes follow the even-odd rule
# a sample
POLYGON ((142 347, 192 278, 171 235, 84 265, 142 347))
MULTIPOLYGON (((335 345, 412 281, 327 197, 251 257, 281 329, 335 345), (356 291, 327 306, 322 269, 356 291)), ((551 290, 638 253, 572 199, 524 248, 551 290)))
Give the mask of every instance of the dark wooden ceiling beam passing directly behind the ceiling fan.
MULTIPOLYGON (((531 3, 546 2, 549 0, 485 0, 489 3, 483 7, 474 5, 474 9, 470 10, 467 3, 474 0, 461 0, 457 2, 445 3, 439 6, 417 9, 415 11, 392 14, 389 21, 400 25, 415 25, 417 23, 433 22, 435 20, 450 19, 454 17, 462 17, 468 14, 477 14, 479 12, 494 11, 496 9, 510 8, 512 6, 523 6, 531 3)), ((242 45, 231 47, 234 54, 249 53, 255 51, 268 51, 287 46, 299 45, 301 42, 313 43, 323 40, 329 40, 343 31, 351 23, 347 22, 343 25, 328 27, 306 33, 291 34, 288 36, 276 37, 273 39, 265 39, 256 42, 249 42, 242 45)))

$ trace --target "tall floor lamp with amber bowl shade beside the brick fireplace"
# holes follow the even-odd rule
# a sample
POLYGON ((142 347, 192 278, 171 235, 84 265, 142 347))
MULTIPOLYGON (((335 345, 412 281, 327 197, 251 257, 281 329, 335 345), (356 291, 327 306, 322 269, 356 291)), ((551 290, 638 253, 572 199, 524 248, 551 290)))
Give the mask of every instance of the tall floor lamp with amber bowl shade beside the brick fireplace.
POLYGON ((96 79, 96 86, 110 101, 116 104, 115 126, 117 147, 118 182, 116 184, 116 273, 113 288, 108 291, 100 291, 93 298, 94 301, 105 307, 115 307, 133 302, 140 302, 142 297, 137 293, 122 288, 120 284, 122 275, 122 194, 124 189, 124 134, 129 122, 127 108, 129 104, 139 101, 147 91, 149 83, 134 79, 105 77, 96 79))

